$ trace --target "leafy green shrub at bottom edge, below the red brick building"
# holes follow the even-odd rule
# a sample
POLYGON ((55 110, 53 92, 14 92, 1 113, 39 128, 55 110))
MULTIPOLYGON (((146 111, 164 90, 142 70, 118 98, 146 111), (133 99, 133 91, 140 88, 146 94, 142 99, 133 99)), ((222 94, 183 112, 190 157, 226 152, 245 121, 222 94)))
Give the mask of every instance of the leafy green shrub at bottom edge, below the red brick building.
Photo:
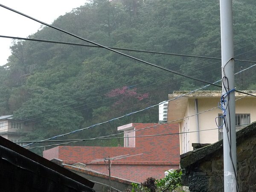
POLYGON ((155 180, 152 177, 148 177, 143 183, 132 183, 132 192, 165 192, 165 191, 175 191, 175 189, 182 186, 181 184, 180 170, 168 171, 166 177, 155 180))

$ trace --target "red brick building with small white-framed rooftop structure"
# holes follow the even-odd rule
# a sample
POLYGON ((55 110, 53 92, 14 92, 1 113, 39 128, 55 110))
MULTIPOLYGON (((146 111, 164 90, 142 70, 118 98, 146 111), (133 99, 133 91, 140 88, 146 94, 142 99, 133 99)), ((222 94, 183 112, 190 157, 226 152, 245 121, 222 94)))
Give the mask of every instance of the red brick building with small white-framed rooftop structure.
POLYGON ((87 169, 108 175, 104 161, 90 162, 106 157, 135 155, 113 160, 111 176, 135 182, 143 182, 148 177, 160 179, 166 170, 179 168, 179 135, 172 134, 178 133, 179 128, 176 124, 154 125, 158 124, 131 123, 118 127, 119 131, 124 131, 124 147, 58 146, 44 151, 44 157, 48 160, 58 158, 65 164, 84 163, 87 169), (140 137, 157 134, 162 135, 140 137))

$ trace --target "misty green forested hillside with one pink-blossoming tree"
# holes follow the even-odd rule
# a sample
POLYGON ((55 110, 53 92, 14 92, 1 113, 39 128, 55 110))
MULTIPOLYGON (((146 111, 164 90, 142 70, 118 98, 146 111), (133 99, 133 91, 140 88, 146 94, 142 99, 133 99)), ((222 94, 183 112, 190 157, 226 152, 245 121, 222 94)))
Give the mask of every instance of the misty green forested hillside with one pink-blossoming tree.
MULTIPOLYGON (((235 59, 255 60, 255 10, 254 0, 233 1, 235 59)), ((218 0, 92 0, 58 17, 52 25, 108 47, 221 55, 218 0)), ((89 45, 49 27, 29 38, 89 45)), ((99 47, 16 40, 11 49, 9 62, 0 68, 0 114, 14 114, 33 124, 35 131, 24 140, 85 128, 167 100, 174 90, 204 85, 99 47)), ((209 82, 221 79, 219 60, 120 52, 209 82)), ((235 62, 235 72, 251 65, 235 62)), ((243 88, 255 89, 255 68, 243 76, 243 88)), ((240 81, 236 75, 238 89, 240 81)), ((65 138, 113 134, 117 126, 131 122, 158 122, 158 108, 65 138)), ((122 139, 78 144, 117 143, 122 144, 122 139)))

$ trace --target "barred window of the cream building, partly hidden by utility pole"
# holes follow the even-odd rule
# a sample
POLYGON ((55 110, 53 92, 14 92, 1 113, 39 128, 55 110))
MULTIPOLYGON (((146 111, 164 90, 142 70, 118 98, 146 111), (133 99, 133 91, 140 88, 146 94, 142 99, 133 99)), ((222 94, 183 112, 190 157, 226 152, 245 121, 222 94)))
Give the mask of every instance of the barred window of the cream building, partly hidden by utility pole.
MULTIPOLYGON (((218 114, 218 126, 223 126, 223 119, 220 118, 222 114, 218 114)), ((236 114, 236 131, 241 130, 250 124, 250 114, 236 114)), ((223 129, 219 129, 218 139, 223 139, 223 129)))

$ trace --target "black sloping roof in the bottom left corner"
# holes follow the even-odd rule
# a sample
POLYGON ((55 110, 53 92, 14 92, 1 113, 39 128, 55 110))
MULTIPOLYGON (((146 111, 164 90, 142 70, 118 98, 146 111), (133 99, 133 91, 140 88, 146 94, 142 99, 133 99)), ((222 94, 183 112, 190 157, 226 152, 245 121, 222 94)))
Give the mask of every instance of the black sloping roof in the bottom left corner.
POLYGON ((94 183, 0 137, 0 191, 94 192, 94 183))

